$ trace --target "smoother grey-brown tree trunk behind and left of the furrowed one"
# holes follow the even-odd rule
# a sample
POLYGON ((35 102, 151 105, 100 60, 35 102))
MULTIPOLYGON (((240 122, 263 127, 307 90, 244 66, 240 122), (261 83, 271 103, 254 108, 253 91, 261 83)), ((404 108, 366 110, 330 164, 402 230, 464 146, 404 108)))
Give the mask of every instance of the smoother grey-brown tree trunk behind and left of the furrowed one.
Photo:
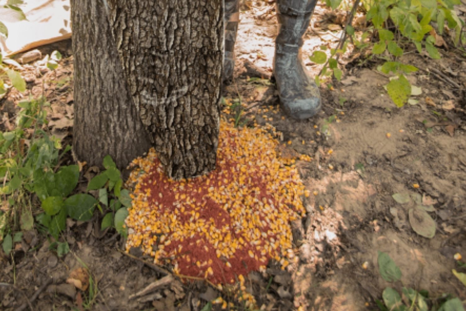
POLYGON ((128 92, 105 1, 72 0, 75 124, 73 149, 89 166, 107 154, 125 168, 151 146, 128 92))

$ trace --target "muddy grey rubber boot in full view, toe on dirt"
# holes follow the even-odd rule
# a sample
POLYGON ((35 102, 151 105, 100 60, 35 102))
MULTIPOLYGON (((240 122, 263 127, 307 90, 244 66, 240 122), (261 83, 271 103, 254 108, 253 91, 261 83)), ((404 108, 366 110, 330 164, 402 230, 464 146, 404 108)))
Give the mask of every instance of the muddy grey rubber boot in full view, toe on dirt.
POLYGON ((277 0, 279 32, 274 77, 283 110, 295 119, 313 117, 321 108, 319 88, 302 64, 302 36, 317 0, 277 0))

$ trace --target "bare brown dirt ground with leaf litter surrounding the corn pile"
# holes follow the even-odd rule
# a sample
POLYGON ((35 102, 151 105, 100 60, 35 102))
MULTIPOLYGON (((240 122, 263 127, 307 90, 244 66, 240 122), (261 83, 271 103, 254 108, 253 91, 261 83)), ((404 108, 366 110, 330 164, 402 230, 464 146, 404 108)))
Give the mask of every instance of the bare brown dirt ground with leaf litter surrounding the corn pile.
MULTIPOLYGON (((313 158, 297 162, 313 193, 305 201, 307 218, 295 230, 299 261, 286 273, 271 263, 266 274, 249 276, 247 287, 258 306, 376 310, 375 300, 381 299, 385 287, 403 285, 428 290, 431 297, 449 293, 465 300, 466 289, 451 270, 456 267, 455 253, 466 256, 466 58, 454 48, 441 49, 443 58, 438 61, 407 53, 402 60, 420 68, 410 82, 422 93, 418 104, 398 109, 386 95, 383 86, 389 79, 377 71, 377 61, 349 53, 341 60, 343 80, 332 82, 331 88, 321 86, 322 112, 296 122, 277 110, 273 84, 250 79, 272 73, 276 19, 272 3, 247 3, 242 7, 235 80, 226 86, 224 96, 241 97, 242 120, 247 124, 269 123, 281 131, 284 154, 313 158), (418 194, 433 205, 429 214, 437 230, 432 239, 413 231, 410 206, 397 203, 392 198, 396 193, 413 198, 418 194), (397 263, 402 282, 383 280, 378 251, 397 263)), ((338 14, 316 8, 306 34, 305 59, 322 44, 338 43, 339 20, 338 14)), ((69 141, 72 53, 69 41, 44 49, 55 48, 67 56, 60 69, 41 73, 31 65, 24 73, 34 96, 41 95, 42 81, 46 83, 44 95, 53 111, 51 130, 69 141)), ((313 74, 320 70, 310 61, 305 64, 313 74)), ((0 101, 2 131, 13 123, 20 97, 11 92, 0 101)), ((130 299, 164 273, 143 263, 138 254, 120 252, 123 241, 101 232, 97 217, 84 224, 69 221, 67 241, 71 252, 62 258, 48 250, 50 242, 37 230, 24 235, 13 259, 0 250, 0 282, 15 284, 0 286, 1 310, 16 310, 21 304, 27 308, 27 299, 35 292, 39 295, 30 306, 34 310, 201 310, 207 300, 219 296, 218 290, 202 282, 173 281, 150 297, 130 299), (98 288, 93 301, 66 283, 70 272, 84 264, 98 288)), ((242 309, 236 304, 234 310, 242 309)))

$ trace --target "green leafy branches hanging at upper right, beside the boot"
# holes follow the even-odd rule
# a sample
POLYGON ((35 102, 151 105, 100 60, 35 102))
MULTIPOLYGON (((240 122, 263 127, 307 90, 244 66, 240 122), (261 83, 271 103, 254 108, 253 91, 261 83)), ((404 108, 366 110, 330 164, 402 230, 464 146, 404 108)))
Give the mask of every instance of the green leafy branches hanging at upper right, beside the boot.
MULTIPOLYGON (((326 0, 326 3, 335 9, 342 0, 326 0)), ((451 30, 455 45, 466 42, 462 32, 465 23, 454 10, 454 6, 459 4, 460 0, 356 0, 338 47, 330 49, 328 57, 327 47, 322 46, 310 59, 317 64, 325 64, 320 76, 333 75, 340 80, 342 71, 338 69, 338 57, 347 50, 348 35, 356 48, 370 49, 370 57, 384 60, 378 69, 393 75, 385 89, 393 102, 402 107, 412 94, 411 83, 405 75, 418 70, 399 61, 406 43, 411 42, 419 53, 425 51, 432 59, 439 59, 441 55, 436 44, 445 26, 451 30), (356 34, 351 21, 360 3, 367 12, 366 20, 370 26, 362 34, 356 34), (431 24, 437 25, 437 30, 431 24)), ((316 77, 317 83, 320 83, 320 76, 316 77)))

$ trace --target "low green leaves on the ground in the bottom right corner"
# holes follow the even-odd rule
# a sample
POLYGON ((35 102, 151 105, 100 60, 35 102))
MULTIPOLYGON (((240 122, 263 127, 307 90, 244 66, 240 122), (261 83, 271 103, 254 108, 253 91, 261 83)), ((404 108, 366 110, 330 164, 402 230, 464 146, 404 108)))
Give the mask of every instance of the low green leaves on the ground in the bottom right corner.
MULTIPOLYGON (((401 280, 401 270, 387 253, 378 252, 377 263, 385 281, 395 283, 401 280)), ((402 286, 401 292, 391 287, 385 288, 382 301, 377 300, 376 304, 381 311, 464 311, 463 303, 458 298, 444 295, 440 299, 433 299, 426 290, 417 291, 405 286, 402 286)))

